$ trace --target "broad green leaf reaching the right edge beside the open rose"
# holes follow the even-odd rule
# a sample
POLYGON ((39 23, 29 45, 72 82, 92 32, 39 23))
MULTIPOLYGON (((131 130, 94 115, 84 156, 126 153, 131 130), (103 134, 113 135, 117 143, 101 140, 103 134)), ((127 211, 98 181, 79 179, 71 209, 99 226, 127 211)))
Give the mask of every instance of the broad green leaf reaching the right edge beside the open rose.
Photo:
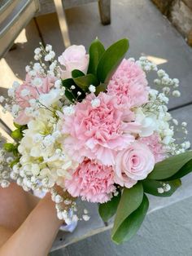
POLYGON ((148 175, 147 179, 169 179, 185 166, 192 159, 192 151, 187 151, 179 155, 169 157, 155 165, 154 170, 148 175))

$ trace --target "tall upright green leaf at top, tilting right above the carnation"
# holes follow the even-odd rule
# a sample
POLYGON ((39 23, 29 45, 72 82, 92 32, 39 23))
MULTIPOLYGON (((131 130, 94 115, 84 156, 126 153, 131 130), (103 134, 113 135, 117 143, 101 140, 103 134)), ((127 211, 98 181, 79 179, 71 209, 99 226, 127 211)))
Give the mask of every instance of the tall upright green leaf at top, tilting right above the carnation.
POLYGON ((100 82, 107 82, 129 49, 129 40, 124 38, 112 44, 103 53, 98 63, 97 76, 100 82))

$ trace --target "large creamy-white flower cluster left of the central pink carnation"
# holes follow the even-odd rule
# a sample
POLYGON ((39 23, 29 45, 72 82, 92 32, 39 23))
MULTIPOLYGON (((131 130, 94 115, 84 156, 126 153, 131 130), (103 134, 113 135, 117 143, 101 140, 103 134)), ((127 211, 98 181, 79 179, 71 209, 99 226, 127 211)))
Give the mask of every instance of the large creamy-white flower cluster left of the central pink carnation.
POLYGON ((24 138, 18 150, 20 163, 15 165, 12 175, 18 168, 20 177, 17 183, 25 190, 41 189, 48 191, 55 183, 62 185, 63 177, 68 176, 69 168, 76 168, 76 163, 68 157, 60 141, 59 123, 47 109, 39 109, 39 115, 28 122, 24 138))

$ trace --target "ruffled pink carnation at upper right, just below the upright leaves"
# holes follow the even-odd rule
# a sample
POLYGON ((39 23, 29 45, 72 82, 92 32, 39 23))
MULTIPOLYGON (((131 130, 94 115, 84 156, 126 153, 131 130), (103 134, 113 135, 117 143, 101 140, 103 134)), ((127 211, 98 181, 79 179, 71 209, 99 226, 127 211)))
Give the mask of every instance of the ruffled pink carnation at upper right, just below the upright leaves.
POLYGON ((148 90, 146 73, 136 63, 125 59, 116 69, 107 86, 107 93, 116 95, 118 104, 125 108, 146 104, 148 90))

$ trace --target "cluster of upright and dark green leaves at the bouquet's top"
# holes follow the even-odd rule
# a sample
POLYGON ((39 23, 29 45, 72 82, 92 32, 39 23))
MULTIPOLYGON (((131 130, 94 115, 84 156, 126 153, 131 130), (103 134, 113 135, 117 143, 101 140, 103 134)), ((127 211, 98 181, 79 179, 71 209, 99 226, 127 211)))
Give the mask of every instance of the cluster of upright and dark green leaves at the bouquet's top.
POLYGON ((62 81, 65 87, 65 96, 74 103, 76 100, 85 99, 85 93, 89 92, 89 86, 96 86, 95 95, 99 92, 107 90, 107 80, 116 70, 120 61, 124 58, 126 51, 129 49, 128 39, 121 39, 115 42, 107 51, 98 39, 95 39, 89 47, 89 66, 87 74, 80 70, 72 70, 72 78, 62 81), (71 89, 75 86, 75 89, 71 89), (77 96, 77 92, 81 92, 81 96, 77 96))

